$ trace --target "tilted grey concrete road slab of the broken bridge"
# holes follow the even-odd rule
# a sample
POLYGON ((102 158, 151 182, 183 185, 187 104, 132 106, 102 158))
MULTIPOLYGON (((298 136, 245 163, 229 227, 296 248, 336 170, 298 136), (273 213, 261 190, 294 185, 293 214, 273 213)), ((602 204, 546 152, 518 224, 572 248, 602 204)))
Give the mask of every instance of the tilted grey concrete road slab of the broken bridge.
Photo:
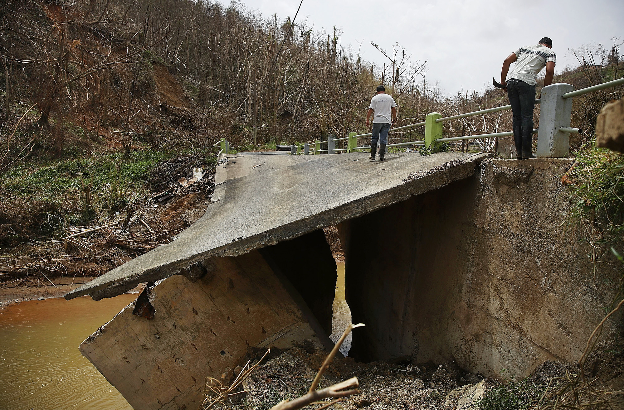
POLYGON ((368 214, 475 172, 487 154, 227 155, 207 212, 170 244, 111 270, 67 299, 114 297, 140 283, 202 269, 212 256, 251 250, 368 214))

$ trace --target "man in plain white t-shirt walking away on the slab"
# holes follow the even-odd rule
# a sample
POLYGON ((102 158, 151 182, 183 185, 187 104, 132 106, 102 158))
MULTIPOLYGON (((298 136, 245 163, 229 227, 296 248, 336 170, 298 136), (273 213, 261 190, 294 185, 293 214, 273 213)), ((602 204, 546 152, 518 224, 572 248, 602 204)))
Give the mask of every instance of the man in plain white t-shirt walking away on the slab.
POLYGON ((377 141, 379 141, 379 160, 383 161, 386 153, 386 144, 388 143, 388 131, 396 121, 396 102, 394 98, 386 94, 386 88, 383 85, 377 87, 377 95, 371 99, 371 105, 366 113, 366 127, 371 124, 371 115, 373 115, 373 137, 371 138, 371 160, 375 160, 375 151, 377 151, 377 141))

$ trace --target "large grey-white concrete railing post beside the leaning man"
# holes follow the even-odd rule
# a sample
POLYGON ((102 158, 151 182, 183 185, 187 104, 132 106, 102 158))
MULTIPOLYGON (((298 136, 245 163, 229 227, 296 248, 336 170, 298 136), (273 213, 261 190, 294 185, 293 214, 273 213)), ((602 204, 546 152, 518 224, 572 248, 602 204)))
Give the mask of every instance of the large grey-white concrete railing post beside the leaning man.
POLYGON ((560 128, 570 126, 572 98, 563 98, 563 94, 573 90, 574 86, 566 83, 542 88, 537 158, 565 158, 570 153, 570 133, 560 128))

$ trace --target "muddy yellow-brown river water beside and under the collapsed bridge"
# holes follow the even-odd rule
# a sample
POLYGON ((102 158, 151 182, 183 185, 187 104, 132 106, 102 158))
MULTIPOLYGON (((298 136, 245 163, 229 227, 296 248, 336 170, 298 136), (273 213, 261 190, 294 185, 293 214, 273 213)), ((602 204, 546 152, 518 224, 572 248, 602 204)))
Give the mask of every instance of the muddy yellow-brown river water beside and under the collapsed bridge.
MULTIPOLYGON (((337 265, 330 336, 334 343, 351 323, 344 300, 344 262, 337 265)), ((78 346, 136 297, 30 300, 1 310, 0 409, 132 410, 78 346)), ((351 335, 340 351, 346 356, 349 348, 351 335)))

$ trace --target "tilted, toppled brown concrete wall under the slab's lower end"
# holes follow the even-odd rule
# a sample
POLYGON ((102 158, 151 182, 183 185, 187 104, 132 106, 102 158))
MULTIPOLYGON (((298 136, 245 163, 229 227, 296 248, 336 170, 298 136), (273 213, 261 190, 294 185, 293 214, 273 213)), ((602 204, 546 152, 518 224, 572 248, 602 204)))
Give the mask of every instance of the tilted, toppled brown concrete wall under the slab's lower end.
MULTIPOLYGON (((80 345, 135 410, 199 408, 205 377, 220 379, 250 347, 333 346, 257 250, 213 257, 196 270, 205 272, 196 282, 174 275, 152 288, 153 319, 132 315, 132 304, 80 345)), ((333 275, 335 284, 335 264, 333 275)))

